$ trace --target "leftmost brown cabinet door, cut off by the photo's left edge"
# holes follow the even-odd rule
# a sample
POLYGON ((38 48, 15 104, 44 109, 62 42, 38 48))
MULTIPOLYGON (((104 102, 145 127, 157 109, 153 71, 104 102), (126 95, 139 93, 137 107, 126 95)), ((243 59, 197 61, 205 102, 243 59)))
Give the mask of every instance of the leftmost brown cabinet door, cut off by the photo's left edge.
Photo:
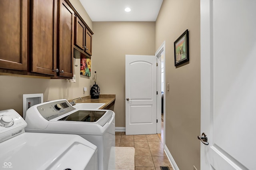
POLYGON ((0 0, 0 68, 27 70, 28 0, 0 0))

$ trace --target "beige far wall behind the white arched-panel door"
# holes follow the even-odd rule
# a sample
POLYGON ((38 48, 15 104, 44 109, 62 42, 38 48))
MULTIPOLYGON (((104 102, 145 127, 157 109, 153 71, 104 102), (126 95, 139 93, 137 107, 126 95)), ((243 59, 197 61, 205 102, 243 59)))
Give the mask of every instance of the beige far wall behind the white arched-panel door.
POLYGON ((155 22, 93 22, 93 72, 102 94, 116 94, 116 127, 125 127, 125 55, 154 55, 155 22))

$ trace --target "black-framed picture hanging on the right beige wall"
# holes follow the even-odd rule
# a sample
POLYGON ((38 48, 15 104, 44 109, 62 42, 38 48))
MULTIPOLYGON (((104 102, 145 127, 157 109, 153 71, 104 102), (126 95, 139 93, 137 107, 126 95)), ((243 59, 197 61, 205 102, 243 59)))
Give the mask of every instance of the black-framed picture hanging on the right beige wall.
POLYGON ((174 42, 174 65, 189 61, 188 30, 174 42))

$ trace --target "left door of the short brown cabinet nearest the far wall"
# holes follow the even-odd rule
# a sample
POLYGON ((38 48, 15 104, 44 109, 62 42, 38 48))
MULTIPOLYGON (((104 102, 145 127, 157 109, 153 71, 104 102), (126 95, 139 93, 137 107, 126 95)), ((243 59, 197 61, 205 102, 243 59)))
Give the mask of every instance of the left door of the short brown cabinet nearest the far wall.
POLYGON ((85 46, 85 26, 84 24, 81 22, 81 20, 79 20, 78 17, 75 18, 76 19, 76 29, 75 29, 75 45, 77 47, 79 47, 80 49, 84 50, 84 46, 85 46))

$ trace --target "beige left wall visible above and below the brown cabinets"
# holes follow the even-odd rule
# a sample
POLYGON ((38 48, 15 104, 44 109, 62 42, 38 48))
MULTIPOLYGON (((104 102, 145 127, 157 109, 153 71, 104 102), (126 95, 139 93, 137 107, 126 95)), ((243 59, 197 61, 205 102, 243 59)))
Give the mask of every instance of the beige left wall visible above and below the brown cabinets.
MULTIPOLYGON (((81 8, 79 0, 70 0, 74 8, 82 16, 86 24, 92 29, 92 20, 81 8)), ((43 79, 30 77, 14 77, 0 75, 0 110, 15 109, 22 115, 22 95, 43 93, 44 101, 55 99, 74 99, 76 97, 90 95, 91 78, 79 75, 80 59, 75 62, 76 83, 69 83, 60 79, 43 79), (83 87, 87 91, 83 94, 83 87)), ((93 66, 92 66, 93 67, 93 66)))

